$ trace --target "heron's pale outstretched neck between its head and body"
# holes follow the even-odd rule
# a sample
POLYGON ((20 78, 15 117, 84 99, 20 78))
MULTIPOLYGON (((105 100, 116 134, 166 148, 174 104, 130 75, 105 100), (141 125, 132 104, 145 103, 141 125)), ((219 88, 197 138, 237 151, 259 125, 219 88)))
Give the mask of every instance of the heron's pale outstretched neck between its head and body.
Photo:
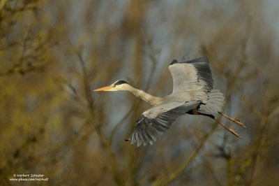
POLYGON ((151 105, 153 105, 153 106, 162 103, 162 98, 152 96, 152 95, 144 92, 143 90, 138 90, 135 87, 132 87, 131 85, 127 84, 125 86, 125 90, 127 90, 128 92, 132 92, 135 96, 139 97, 140 99, 143 99, 144 101, 146 101, 148 103, 151 103, 151 105))

